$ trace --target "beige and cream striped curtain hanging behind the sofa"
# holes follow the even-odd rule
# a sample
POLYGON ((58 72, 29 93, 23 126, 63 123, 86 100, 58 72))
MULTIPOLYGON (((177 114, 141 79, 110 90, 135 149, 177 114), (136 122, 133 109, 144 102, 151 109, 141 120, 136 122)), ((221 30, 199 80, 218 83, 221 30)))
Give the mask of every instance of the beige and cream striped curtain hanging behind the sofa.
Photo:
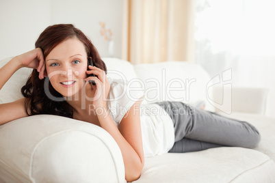
POLYGON ((132 64, 194 61, 194 0, 125 1, 123 58, 132 64))

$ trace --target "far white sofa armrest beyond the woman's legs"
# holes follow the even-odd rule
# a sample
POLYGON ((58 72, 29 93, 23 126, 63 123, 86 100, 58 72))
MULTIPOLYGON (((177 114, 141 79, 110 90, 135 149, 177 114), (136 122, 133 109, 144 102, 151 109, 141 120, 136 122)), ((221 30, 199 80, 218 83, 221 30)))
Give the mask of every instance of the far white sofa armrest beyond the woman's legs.
POLYGON ((267 94, 268 89, 261 87, 213 87, 213 105, 218 113, 231 109, 228 111, 263 115, 267 94))

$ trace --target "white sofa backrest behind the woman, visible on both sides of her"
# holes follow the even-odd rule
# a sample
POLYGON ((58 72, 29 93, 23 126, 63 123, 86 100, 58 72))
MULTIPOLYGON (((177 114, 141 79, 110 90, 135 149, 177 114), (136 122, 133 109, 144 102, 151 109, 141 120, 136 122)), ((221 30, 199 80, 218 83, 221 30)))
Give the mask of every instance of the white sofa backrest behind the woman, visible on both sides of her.
MULTIPOLYGON (((0 61, 4 66, 12 58, 0 61)), ((213 111, 207 102, 212 98, 211 88, 207 88, 210 78, 198 64, 187 61, 165 61, 155 64, 133 65, 129 61, 116 58, 103 58, 107 66, 107 78, 122 79, 128 83, 138 83, 144 89, 144 103, 163 100, 176 100, 194 104, 198 100, 206 102, 206 109, 213 111), (207 96, 208 94, 208 96, 207 96)), ((31 74, 32 69, 21 68, 0 90, 0 102, 12 102, 22 98, 21 87, 31 74)))

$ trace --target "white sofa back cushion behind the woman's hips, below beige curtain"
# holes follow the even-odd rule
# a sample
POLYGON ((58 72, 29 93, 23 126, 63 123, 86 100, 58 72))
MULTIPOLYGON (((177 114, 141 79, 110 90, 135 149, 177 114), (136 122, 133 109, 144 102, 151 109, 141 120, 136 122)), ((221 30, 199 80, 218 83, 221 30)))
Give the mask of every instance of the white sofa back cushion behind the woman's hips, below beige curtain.
POLYGON ((146 102, 174 100, 193 105, 203 100, 206 102, 205 109, 214 111, 207 100, 207 97, 213 97, 213 89, 207 88, 211 79, 200 65, 187 61, 165 61, 139 64, 134 68, 137 77, 144 83, 146 102))

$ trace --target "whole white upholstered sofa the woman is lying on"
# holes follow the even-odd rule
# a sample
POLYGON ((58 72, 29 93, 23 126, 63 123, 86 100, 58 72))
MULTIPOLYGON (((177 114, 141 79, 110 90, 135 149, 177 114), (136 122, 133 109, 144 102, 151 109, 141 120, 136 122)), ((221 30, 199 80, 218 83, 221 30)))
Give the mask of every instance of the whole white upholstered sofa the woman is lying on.
MULTIPOLYGON (((8 60, 0 61, 0 67, 8 60)), ((215 111, 212 104, 218 104, 219 112, 224 111, 218 101, 221 90, 209 85, 211 79, 197 64, 166 61, 133 66, 120 59, 103 60, 110 82, 120 78, 144 83, 144 103, 183 100, 194 104, 204 100, 206 110, 215 111)), ((18 70, 1 89, 0 102, 21 98, 20 88, 30 72, 27 68, 18 70)), ((219 147, 146 157, 136 183, 275 182, 275 119, 263 115, 267 91, 234 87, 229 93, 228 88, 222 91, 233 92, 232 105, 228 103, 230 114, 224 115, 256 126, 262 137, 258 147, 219 147)), ((75 119, 35 115, 0 126, 0 182, 126 181, 120 149, 105 130, 75 119)))

